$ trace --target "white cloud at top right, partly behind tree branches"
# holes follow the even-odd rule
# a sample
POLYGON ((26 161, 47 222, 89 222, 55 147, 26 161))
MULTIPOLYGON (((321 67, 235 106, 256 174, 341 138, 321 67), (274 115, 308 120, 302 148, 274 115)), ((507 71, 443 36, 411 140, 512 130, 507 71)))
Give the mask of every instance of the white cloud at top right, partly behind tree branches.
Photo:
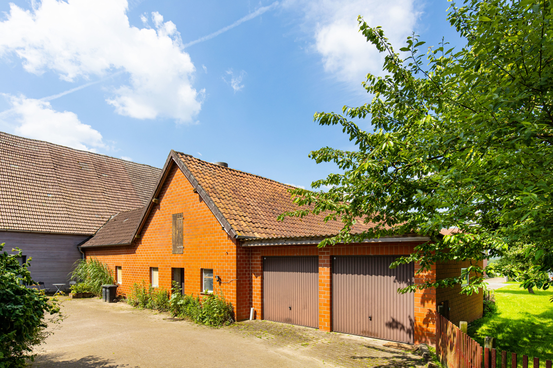
POLYGON ((419 18, 415 4, 415 0, 285 0, 283 7, 304 14, 302 28, 314 39, 325 71, 359 86, 368 72, 380 74, 385 55, 359 32, 357 15, 371 26, 382 26, 399 51, 419 18))

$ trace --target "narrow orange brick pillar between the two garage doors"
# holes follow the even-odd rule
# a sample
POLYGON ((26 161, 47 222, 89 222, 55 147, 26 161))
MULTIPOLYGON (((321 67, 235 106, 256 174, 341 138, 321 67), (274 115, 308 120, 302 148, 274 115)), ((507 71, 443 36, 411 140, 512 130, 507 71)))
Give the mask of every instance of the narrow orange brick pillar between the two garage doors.
POLYGON ((319 329, 332 330, 330 249, 319 249, 319 329))

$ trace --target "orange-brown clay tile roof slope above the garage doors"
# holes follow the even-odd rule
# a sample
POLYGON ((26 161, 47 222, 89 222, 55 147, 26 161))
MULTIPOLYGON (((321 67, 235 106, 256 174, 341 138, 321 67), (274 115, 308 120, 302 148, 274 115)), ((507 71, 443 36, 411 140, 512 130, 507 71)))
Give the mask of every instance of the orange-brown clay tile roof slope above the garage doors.
MULTIPOLYGON (((225 168, 176 152, 210 196, 232 228, 241 236, 257 238, 325 237, 337 234, 340 221, 325 222, 322 216, 276 218, 299 207, 288 189, 293 187, 258 175, 225 168)), ((371 226, 362 225, 362 227, 371 226)), ((359 227, 361 229, 361 227, 359 227)))

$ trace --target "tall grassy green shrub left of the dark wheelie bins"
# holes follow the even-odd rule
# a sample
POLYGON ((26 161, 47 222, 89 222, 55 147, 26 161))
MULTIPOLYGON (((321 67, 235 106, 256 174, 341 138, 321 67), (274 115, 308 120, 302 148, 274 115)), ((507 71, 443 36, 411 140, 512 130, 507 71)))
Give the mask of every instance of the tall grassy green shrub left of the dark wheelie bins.
POLYGON ((102 285, 113 285, 115 283, 112 270, 97 258, 78 260, 75 262, 75 269, 70 275, 71 280, 77 281, 79 284, 85 284, 82 288, 96 296, 102 295, 102 285))

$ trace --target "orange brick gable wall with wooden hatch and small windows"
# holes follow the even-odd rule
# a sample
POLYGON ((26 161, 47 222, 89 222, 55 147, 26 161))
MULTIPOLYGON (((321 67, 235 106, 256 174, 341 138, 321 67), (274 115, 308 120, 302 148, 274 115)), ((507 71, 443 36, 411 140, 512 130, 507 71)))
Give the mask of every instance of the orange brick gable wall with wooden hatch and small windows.
POLYGON ((202 269, 212 269, 222 282, 213 287, 221 290, 234 306, 237 319, 249 317, 251 278, 249 249, 239 246, 228 236, 189 180, 173 163, 161 188, 159 204, 150 212, 131 246, 85 248, 86 257, 96 257, 112 270, 122 268, 120 294, 128 294, 134 282, 149 284, 150 269, 158 268, 159 287, 171 288, 172 268, 184 268, 185 294, 202 292, 202 269), (172 253, 171 218, 182 213, 184 249, 172 253))

